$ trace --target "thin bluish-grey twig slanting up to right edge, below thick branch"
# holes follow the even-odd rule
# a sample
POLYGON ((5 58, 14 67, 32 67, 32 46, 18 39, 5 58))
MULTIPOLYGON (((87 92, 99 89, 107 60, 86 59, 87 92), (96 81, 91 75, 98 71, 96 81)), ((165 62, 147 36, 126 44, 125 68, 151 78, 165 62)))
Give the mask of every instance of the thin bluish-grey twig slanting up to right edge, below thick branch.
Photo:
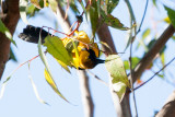
POLYGON ((159 74, 163 69, 165 69, 170 63, 172 63, 175 60, 175 57, 168 62, 166 63, 162 69, 160 69, 158 72, 155 72, 149 80, 147 80, 144 83, 142 83, 141 85, 137 86, 136 89, 133 89, 135 91, 138 90, 139 87, 143 86, 144 84, 147 84, 149 81, 151 81, 156 74, 159 74))

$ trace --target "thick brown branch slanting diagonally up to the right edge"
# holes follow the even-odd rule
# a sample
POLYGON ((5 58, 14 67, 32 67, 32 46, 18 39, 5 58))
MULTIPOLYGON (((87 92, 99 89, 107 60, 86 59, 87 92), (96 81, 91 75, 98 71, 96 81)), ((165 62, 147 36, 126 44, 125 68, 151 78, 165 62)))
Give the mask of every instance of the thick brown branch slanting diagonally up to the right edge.
POLYGON ((149 50, 149 52, 140 60, 140 62, 135 68, 133 82, 136 82, 136 80, 141 77, 143 71, 150 66, 150 63, 155 58, 156 54, 159 54, 159 51, 165 46, 166 42, 173 36, 174 33, 175 28, 173 27, 173 25, 168 25, 168 27, 158 38, 154 46, 149 50))

